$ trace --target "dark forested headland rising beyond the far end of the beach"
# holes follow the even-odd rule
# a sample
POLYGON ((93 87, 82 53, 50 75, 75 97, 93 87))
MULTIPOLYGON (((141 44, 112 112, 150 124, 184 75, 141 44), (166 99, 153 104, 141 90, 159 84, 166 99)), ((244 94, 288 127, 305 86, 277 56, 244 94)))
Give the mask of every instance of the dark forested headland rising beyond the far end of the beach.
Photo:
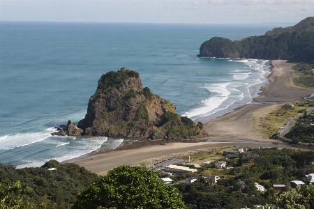
POLYGON ((294 26, 267 31, 264 36, 235 41, 214 37, 202 43, 197 56, 314 63, 314 17, 307 17, 294 26))

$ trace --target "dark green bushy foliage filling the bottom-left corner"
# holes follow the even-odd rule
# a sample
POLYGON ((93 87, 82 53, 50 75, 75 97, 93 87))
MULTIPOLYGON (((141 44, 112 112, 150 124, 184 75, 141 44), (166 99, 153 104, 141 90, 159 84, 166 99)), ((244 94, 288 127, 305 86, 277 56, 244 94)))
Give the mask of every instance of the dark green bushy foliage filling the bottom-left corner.
POLYGON ((26 208, 70 208, 75 196, 82 189, 87 189, 96 179, 96 173, 91 173, 77 164, 59 164, 56 160, 50 160, 40 168, 15 169, 13 166, 0 164, 0 191, 15 191, 8 192, 11 196, 4 202, 15 199, 23 200, 24 203, 29 201, 31 205, 26 208), (47 170, 52 167, 57 170, 47 170), (27 189, 27 192, 22 192, 22 188, 27 189))

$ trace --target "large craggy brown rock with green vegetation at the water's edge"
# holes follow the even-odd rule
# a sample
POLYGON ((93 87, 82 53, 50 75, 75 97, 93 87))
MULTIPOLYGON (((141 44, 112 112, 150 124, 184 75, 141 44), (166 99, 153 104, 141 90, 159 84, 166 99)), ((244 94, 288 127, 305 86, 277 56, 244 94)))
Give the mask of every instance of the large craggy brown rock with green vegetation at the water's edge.
MULTIPOLYGON (((66 133, 86 136, 196 139, 207 136, 202 123, 179 116, 176 107, 142 87, 139 74, 121 68, 107 72, 89 99, 87 114, 66 133), (81 134, 81 133, 80 133, 81 134)), ((64 133, 64 131, 63 131, 64 133)))

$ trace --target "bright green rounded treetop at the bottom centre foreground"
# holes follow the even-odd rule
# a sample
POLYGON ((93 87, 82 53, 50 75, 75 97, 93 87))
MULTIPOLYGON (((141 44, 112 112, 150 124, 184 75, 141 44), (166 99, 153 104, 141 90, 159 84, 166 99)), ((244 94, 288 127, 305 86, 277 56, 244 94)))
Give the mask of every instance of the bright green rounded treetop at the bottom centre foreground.
POLYGON ((155 171, 123 165, 112 169, 77 196, 73 208, 186 208, 176 187, 155 171))

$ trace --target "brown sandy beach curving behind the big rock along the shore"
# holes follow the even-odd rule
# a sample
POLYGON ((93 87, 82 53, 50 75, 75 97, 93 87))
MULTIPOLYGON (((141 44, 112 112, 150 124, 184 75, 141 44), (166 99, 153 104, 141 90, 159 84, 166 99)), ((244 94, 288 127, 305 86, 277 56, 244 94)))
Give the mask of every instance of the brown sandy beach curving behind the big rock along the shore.
POLYGON ((107 153, 97 153, 89 157, 80 158, 71 162, 85 167, 91 172, 103 174, 105 171, 122 164, 138 164, 142 160, 172 153, 181 153, 187 150, 212 148, 221 146, 277 146, 293 147, 271 139, 263 139, 255 135, 252 130, 251 116, 261 108, 273 105, 269 102, 292 102, 304 99, 314 91, 299 88, 289 88, 285 82, 290 77, 291 63, 283 60, 271 61, 274 68, 269 77, 269 84, 262 86, 262 93, 254 99, 254 103, 239 107, 234 111, 204 122, 204 129, 209 133, 209 139, 214 141, 182 143, 170 142, 166 145, 153 144, 140 148, 112 150, 107 153), (241 140, 235 140, 241 139, 241 140), (271 143, 273 141, 274 143, 271 143))

